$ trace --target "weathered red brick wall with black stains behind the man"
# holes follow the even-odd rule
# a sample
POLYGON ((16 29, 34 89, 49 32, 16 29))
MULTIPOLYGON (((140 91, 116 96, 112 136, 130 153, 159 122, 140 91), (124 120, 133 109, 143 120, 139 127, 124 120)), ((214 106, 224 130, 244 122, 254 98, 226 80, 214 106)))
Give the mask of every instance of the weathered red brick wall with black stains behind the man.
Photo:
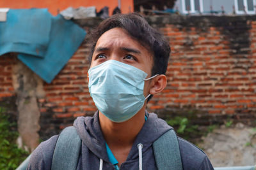
MULTIPOLYGON (((148 22, 170 40, 168 86, 148 103, 160 117, 186 115, 202 125, 227 119, 255 123, 256 16, 149 17, 148 22)), ((77 20, 87 32, 100 20, 77 20)), ((74 118, 96 110, 88 92, 90 41, 80 46, 38 99, 40 135, 48 138, 74 118)), ((15 57, 0 57, 0 97, 15 96, 12 66, 15 57)), ((7 97, 7 98, 6 98, 7 97)))

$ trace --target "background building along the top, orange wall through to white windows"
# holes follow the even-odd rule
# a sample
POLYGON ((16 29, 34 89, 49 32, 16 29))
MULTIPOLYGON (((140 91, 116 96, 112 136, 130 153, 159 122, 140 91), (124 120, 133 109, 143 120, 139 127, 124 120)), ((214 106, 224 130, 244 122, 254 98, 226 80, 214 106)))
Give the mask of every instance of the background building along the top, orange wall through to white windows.
POLYGON ((68 7, 79 8, 80 6, 95 6, 99 12, 104 6, 109 8, 109 15, 113 13, 116 7, 120 8, 122 13, 133 11, 142 11, 145 14, 153 13, 175 13, 183 15, 195 14, 226 14, 226 15, 244 15, 255 13, 256 0, 76 0, 76 1, 0 1, 0 8, 48 8, 52 15, 57 15, 60 11, 68 7))

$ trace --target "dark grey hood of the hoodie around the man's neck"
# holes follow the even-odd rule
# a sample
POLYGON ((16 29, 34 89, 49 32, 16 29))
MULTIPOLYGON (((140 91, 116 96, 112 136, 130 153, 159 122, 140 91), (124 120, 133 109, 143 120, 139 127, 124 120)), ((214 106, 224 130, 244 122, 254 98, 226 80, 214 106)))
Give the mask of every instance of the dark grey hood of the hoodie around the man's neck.
MULTIPOLYGON (((104 160, 104 162, 109 162, 105 146, 106 141, 99 124, 99 111, 97 111, 93 117, 78 117, 74 122, 74 127, 83 144, 97 157, 104 160)), ((137 145, 139 143, 143 145, 143 154, 147 152, 148 148, 152 146, 152 143, 154 143, 156 139, 170 129, 172 129, 172 127, 166 124, 164 120, 157 118, 155 113, 149 113, 147 121, 136 137, 125 162, 138 159, 139 153, 137 145)))

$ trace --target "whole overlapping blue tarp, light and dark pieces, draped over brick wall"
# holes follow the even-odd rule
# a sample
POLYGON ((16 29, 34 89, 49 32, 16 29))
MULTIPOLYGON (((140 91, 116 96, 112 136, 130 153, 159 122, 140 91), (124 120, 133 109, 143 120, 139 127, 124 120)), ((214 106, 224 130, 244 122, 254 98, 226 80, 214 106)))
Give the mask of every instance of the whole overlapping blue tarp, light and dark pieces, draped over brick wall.
POLYGON ((47 9, 10 10, 0 22, 0 55, 19 52, 20 59, 47 83, 67 64, 86 32, 47 9))

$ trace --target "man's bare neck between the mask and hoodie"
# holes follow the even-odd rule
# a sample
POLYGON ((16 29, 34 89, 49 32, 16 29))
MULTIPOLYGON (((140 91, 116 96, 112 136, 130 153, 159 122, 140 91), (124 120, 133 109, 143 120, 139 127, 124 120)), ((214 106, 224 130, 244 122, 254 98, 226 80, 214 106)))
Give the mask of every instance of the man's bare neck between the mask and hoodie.
POLYGON ((134 117, 122 123, 109 120, 99 111, 100 127, 109 147, 131 147, 145 122, 145 106, 134 117))

